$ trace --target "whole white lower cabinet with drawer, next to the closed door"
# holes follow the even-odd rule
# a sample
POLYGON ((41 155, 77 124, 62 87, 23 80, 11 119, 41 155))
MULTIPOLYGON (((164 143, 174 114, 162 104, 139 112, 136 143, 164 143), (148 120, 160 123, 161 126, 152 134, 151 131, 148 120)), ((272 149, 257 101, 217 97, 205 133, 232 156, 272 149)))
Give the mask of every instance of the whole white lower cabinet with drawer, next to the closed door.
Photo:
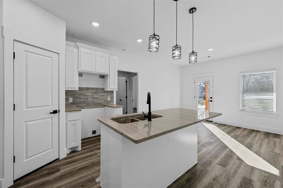
POLYGON ((81 112, 66 112, 66 149, 67 154, 81 150, 81 112))

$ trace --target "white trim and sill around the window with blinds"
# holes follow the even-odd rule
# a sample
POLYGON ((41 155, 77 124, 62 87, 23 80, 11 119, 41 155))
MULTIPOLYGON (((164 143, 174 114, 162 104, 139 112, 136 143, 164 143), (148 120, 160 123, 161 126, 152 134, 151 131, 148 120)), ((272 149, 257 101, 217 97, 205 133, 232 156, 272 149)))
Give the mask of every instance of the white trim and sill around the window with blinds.
MULTIPOLYGON (((275 71, 275 73, 276 73, 276 69, 265 69, 265 70, 254 70, 254 71, 240 72, 239 75, 241 77, 241 74, 249 74, 249 73, 255 73, 255 72, 265 72, 265 71, 275 71)), ((240 85, 241 85, 241 81, 240 81, 240 85)), ((275 93, 275 95, 276 95, 276 93, 275 93)), ((241 99, 241 95, 240 95, 240 100, 242 100, 241 99)), ((277 103, 277 101, 276 101, 276 103, 277 103)), ((277 115, 278 115, 278 113, 276 113, 276 111, 277 111, 277 104, 276 104, 276 107, 275 107, 275 112, 258 112, 258 111, 245 111, 245 110, 239 110, 238 112, 240 114, 247 114, 247 115, 254 115, 254 116, 265 116, 265 117, 276 118, 277 115)))

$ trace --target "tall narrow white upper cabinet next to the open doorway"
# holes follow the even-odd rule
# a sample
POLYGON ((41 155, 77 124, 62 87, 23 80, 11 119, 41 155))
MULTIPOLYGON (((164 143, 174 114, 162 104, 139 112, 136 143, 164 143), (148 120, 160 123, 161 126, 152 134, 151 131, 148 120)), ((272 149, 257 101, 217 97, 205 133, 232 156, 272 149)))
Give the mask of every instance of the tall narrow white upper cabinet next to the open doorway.
POLYGON ((109 75, 104 77, 105 91, 117 91, 118 89, 118 57, 109 58, 109 75))

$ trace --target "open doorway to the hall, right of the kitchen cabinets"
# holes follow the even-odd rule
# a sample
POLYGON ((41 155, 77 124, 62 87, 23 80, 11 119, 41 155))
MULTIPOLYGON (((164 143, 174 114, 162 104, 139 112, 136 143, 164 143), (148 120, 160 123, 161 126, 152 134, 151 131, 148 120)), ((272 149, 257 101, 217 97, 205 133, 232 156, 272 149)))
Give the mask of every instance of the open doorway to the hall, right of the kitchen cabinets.
POLYGON ((118 70, 118 90, 116 103, 123 105, 123 114, 137 112, 138 106, 138 73, 118 70))

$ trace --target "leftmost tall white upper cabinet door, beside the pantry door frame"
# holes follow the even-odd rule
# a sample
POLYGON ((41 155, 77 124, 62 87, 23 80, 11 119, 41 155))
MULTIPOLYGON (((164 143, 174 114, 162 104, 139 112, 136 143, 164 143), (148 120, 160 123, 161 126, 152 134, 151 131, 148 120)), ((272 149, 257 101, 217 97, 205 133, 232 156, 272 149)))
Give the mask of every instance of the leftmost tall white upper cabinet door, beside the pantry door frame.
POLYGON ((66 46, 66 90, 78 90, 77 48, 66 46))

